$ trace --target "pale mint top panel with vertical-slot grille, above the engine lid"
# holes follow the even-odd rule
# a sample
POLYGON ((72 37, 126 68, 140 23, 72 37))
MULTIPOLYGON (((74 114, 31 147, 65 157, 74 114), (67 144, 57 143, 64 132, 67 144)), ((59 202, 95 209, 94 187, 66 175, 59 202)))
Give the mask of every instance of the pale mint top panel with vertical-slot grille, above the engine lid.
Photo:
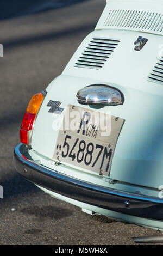
POLYGON ((107 0, 99 29, 120 29, 163 35, 162 0, 107 0))

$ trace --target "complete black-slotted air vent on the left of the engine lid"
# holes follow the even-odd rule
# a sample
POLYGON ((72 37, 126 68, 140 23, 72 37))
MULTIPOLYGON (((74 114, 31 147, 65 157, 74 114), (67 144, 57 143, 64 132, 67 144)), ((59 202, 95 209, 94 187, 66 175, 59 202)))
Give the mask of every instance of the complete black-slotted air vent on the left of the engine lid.
POLYGON ((90 69, 102 68, 119 42, 113 39, 93 38, 74 66, 90 69))

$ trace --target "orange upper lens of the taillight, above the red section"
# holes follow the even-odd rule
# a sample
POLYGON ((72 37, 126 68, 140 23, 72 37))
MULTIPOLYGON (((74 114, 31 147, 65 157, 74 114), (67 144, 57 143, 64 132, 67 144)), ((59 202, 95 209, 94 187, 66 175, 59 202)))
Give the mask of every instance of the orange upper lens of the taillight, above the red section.
POLYGON ((37 114, 44 97, 45 95, 43 93, 37 93, 33 95, 28 104, 26 112, 30 114, 37 114))

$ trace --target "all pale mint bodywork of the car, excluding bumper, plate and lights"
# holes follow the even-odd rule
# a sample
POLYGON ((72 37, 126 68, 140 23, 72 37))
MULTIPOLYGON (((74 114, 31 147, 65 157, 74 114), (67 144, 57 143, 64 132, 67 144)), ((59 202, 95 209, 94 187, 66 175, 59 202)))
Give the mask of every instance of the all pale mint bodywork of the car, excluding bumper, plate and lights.
MULTIPOLYGON (((33 162, 73 179, 131 193, 142 200, 149 197, 163 203, 162 14, 163 3, 159 0, 107 2, 95 31, 84 39, 62 74, 46 89, 47 95, 35 121, 31 149, 28 149, 33 162), (134 42, 139 36, 148 41, 140 51, 135 51, 134 42), (81 54, 96 38, 119 42, 102 68, 77 65, 81 54), (158 65, 162 70, 158 69, 158 65), (53 159, 58 131, 53 129, 56 116, 48 112, 47 104, 54 100, 61 102, 60 107, 64 109, 68 104, 82 107, 76 94, 90 84, 106 84, 117 88, 124 95, 123 105, 94 108, 97 112, 110 111, 111 115, 125 120, 116 144, 109 177, 77 168, 73 164, 61 162, 57 165, 53 159)), ((91 106, 83 107, 92 109, 91 106)), ((62 115, 58 117, 58 121, 62 121, 61 118, 62 115)), ((162 220, 111 211, 36 185, 51 196, 77 205, 89 214, 102 214, 116 220, 163 230, 162 220)))

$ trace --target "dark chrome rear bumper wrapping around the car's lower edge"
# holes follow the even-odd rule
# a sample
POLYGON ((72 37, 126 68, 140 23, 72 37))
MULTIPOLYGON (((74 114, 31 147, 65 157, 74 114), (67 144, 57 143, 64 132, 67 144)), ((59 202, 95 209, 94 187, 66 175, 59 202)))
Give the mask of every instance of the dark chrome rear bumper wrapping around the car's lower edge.
POLYGON ((34 163, 23 144, 14 150, 14 166, 27 180, 62 196, 123 214, 163 220, 162 199, 113 190, 55 172, 34 163))

